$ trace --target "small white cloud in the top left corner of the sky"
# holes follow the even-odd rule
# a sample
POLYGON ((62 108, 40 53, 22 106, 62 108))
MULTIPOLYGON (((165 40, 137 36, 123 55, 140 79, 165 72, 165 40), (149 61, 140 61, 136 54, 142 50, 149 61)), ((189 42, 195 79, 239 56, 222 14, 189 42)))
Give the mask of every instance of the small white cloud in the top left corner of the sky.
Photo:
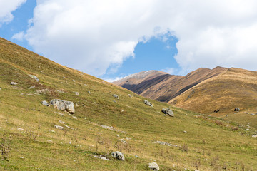
POLYGON ((26 0, 0 0, 0 26, 1 24, 10 22, 14 16, 11 14, 26 0))

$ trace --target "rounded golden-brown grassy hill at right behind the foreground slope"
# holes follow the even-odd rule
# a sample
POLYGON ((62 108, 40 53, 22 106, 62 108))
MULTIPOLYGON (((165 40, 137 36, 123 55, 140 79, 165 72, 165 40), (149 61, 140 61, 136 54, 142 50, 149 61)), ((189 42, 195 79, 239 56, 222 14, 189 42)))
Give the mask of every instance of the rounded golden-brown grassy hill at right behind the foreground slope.
POLYGON ((257 118, 257 72, 230 68, 225 73, 187 90, 170 101, 181 108, 199 113, 225 117, 237 122, 256 126, 257 118), (199 105, 201 104, 201 105, 199 105), (234 108, 240 108, 234 113, 234 108), (218 113, 213 113, 219 109, 218 113))

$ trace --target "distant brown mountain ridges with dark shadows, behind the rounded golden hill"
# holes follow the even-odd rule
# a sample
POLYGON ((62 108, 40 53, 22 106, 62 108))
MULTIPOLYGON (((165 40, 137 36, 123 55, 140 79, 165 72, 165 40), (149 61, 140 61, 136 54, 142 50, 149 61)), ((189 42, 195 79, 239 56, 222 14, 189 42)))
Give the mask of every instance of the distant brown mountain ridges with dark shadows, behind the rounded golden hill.
POLYGON ((218 76, 226 70, 227 68, 222 67, 216 67, 213 70, 199 68, 186 76, 173 76, 161 71, 144 71, 114 81, 114 84, 132 90, 144 97, 168 102, 189 88, 201 83, 201 81, 218 76))

